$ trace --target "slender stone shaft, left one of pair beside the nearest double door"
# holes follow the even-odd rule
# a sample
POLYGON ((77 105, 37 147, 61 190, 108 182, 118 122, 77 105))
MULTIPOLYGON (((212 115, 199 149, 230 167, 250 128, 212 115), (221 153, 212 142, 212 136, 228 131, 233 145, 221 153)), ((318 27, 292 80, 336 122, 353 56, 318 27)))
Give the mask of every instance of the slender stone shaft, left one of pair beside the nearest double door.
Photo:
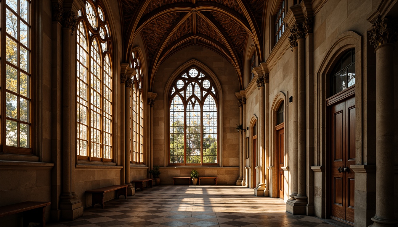
POLYGON ((291 107, 289 111, 291 112, 291 122, 289 125, 289 131, 292 132, 292 140, 290 144, 291 152, 289 152, 289 172, 290 172, 290 200, 295 200, 295 196, 297 196, 297 47, 292 48, 293 52, 293 88, 291 90, 291 95, 293 96, 293 102, 290 104, 291 107))

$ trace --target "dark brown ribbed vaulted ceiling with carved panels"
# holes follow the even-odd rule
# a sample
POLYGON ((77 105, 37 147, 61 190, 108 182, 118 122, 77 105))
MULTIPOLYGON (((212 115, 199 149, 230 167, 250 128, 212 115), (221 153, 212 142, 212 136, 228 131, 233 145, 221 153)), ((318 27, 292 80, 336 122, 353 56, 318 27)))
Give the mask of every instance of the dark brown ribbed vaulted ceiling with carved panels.
POLYGON ((152 89, 160 64, 178 50, 200 45, 226 58, 243 84, 246 39, 252 37, 262 60, 265 0, 119 0, 125 33, 125 58, 142 35, 152 89))

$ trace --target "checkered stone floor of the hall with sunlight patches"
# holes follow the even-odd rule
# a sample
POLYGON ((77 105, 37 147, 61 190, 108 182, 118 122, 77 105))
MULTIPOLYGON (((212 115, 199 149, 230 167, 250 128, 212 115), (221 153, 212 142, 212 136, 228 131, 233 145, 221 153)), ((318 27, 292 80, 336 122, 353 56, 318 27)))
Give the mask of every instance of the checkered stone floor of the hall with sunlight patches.
POLYGON ((165 185, 86 208, 74 221, 50 227, 334 227, 342 223, 291 215, 283 200, 254 196, 240 186, 165 185))

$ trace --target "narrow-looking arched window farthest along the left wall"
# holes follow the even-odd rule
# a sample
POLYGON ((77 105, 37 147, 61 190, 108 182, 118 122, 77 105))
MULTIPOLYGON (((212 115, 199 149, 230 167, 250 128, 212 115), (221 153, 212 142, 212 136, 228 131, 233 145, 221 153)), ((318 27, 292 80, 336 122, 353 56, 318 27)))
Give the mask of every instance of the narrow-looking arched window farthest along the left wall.
POLYGON ((131 54, 130 67, 137 74, 131 85, 131 162, 144 163, 144 100, 141 58, 137 51, 131 54))

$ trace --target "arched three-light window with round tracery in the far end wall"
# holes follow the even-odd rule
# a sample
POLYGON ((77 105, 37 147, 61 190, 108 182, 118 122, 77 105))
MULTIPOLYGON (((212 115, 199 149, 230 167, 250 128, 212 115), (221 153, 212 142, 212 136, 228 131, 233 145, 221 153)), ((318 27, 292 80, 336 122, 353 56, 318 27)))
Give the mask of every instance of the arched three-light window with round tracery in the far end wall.
POLYGON ((218 165, 218 96, 211 78, 188 68, 169 101, 169 164, 218 165))

